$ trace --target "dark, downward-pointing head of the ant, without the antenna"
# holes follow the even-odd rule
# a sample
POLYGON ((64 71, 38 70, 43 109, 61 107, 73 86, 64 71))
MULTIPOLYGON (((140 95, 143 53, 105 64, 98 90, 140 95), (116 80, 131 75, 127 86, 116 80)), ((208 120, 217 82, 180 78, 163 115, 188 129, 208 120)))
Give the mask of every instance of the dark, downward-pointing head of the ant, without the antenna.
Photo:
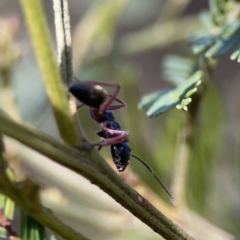
POLYGON ((123 172, 129 164, 131 148, 127 143, 111 145, 113 161, 119 172, 123 172))

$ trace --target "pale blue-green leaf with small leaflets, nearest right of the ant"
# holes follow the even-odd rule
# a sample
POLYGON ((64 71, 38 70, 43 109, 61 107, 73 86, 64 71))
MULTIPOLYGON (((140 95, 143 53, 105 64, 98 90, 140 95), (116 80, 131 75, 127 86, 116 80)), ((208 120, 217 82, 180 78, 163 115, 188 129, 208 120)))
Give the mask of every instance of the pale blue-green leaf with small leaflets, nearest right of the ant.
MULTIPOLYGON (((191 102, 189 96, 196 92, 196 88, 201 84, 202 77, 203 72, 197 71, 176 88, 168 89, 165 92, 162 90, 161 94, 159 91, 143 97, 139 107, 148 108, 147 116, 149 117, 157 116, 177 105, 182 105, 183 108, 191 102), (184 99, 186 101, 183 101, 184 99)), ((181 106, 178 107, 181 108, 181 106)))

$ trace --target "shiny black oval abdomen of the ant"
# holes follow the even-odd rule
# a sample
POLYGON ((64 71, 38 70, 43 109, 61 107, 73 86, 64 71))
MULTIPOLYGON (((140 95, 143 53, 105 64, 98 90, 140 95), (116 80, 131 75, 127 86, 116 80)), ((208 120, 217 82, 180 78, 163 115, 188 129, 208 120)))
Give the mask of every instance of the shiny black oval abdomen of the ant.
POLYGON ((88 82, 74 82, 69 91, 80 102, 96 109, 99 109, 107 98, 107 92, 101 86, 88 82))

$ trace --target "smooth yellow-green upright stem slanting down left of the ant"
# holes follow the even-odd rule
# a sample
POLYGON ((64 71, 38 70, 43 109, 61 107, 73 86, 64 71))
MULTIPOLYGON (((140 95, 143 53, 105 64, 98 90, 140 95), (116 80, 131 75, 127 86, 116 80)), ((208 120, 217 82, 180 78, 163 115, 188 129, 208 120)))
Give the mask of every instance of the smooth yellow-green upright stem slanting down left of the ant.
POLYGON ((20 2, 62 139, 69 145, 80 146, 81 139, 68 108, 41 1, 20 2))

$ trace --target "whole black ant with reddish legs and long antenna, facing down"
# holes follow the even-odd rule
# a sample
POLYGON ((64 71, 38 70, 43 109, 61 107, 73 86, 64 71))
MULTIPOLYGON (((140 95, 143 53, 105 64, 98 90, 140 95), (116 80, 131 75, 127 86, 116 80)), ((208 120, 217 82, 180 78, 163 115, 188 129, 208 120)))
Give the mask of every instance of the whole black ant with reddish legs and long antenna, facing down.
POLYGON ((142 159, 131 154, 131 148, 127 144, 129 134, 121 129, 120 124, 115 121, 113 113, 110 112, 111 110, 126 107, 125 103, 117 98, 117 94, 120 91, 120 85, 117 83, 95 81, 83 82, 78 81, 77 79, 75 80, 76 82, 73 82, 69 87, 69 91, 74 97, 82 102, 82 104, 77 106, 77 108, 81 108, 84 105, 89 106, 91 117, 102 127, 102 130, 97 132, 102 141, 93 145, 99 146, 99 151, 103 146, 111 146, 113 162, 115 163, 119 172, 123 172, 126 169, 130 161, 130 156, 139 160, 153 174, 154 178, 170 197, 172 203, 176 205, 173 196, 163 185, 152 168, 142 159), (111 95, 100 85, 113 87, 115 88, 115 91, 111 95), (113 101, 118 102, 118 105, 111 105, 113 101))

